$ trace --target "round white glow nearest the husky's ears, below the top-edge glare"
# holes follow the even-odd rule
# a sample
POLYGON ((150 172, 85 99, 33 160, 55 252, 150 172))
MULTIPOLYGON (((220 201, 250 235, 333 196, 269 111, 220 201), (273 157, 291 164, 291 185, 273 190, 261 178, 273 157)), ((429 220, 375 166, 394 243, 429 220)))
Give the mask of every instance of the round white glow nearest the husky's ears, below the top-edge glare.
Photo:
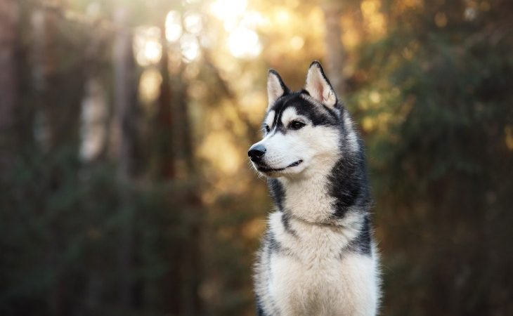
POLYGON ((245 27, 238 27, 228 37, 228 49, 237 58, 252 58, 262 51, 257 32, 245 27))

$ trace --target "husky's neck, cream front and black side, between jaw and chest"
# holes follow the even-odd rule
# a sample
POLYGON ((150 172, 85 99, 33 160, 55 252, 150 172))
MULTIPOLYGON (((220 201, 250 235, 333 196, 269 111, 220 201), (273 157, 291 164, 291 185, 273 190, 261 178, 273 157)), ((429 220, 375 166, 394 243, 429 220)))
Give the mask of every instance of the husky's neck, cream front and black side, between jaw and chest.
POLYGON ((350 213, 363 215, 370 207, 365 164, 358 163, 356 154, 323 159, 301 176, 275 179, 270 188, 278 209, 306 223, 353 226, 350 213))

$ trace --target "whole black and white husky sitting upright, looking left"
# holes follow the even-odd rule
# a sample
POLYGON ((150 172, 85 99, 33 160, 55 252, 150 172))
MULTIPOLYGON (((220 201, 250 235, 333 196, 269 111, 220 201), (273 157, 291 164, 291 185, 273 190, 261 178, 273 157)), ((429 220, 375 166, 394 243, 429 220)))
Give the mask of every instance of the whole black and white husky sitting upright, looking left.
POLYGON ((268 73, 264 138, 249 157, 268 178, 276 211, 257 254, 258 315, 376 315, 365 153, 319 62, 303 90, 268 73))

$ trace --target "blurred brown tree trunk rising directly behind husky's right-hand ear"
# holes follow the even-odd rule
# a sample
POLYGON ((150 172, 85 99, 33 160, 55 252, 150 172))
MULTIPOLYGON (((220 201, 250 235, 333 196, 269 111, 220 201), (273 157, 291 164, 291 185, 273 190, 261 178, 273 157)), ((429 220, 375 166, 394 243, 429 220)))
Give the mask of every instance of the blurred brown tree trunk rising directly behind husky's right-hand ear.
POLYGON ((339 97, 346 92, 346 83, 343 74, 346 52, 342 45, 342 29, 340 16, 342 4, 338 1, 324 1, 323 4, 326 33, 325 44, 325 69, 330 82, 339 97))

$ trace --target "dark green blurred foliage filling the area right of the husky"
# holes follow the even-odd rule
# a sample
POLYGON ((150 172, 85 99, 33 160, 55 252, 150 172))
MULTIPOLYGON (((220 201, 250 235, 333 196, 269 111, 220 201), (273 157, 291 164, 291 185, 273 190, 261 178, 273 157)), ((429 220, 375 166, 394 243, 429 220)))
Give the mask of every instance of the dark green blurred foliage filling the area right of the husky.
POLYGON ((472 22, 456 14, 465 11, 460 1, 410 11, 387 37, 360 48, 368 77, 353 101, 381 96, 359 117, 364 129, 366 119, 378 126, 366 138, 387 315, 505 315, 512 308, 505 223, 513 220, 506 193, 513 154, 505 130, 513 121, 513 42, 502 18, 513 8, 491 6, 472 22), (443 27, 434 23, 441 12, 443 27), (403 27, 408 20, 415 25, 403 27))

